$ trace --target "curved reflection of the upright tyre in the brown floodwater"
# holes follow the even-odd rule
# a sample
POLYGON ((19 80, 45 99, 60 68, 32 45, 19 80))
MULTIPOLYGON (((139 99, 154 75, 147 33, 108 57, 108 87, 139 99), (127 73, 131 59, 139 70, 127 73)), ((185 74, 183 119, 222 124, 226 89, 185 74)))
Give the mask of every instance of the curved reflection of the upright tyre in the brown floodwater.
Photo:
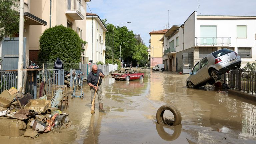
POLYGON ((181 128, 182 128, 182 125, 177 125, 177 126, 162 126, 162 125, 159 125, 156 123, 156 130, 157 130, 157 133, 158 135, 166 140, 166 141, 173 141, 173 140, 176 140, 180 134, 181 134, 181 128), (170 133, 167 133, 164 128, 166 129, 170 129, 173 131, 172 134, 170 133))

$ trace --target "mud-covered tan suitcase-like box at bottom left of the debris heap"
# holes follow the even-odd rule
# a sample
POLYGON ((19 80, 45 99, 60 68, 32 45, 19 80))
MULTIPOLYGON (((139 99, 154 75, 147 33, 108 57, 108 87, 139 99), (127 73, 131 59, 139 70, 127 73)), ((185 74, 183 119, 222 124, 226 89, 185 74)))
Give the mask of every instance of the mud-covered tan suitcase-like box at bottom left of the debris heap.
POLYGON ((24 121, 0 117, 0 135, 19 137, 23 135, 25 131, 26 124, 24 121))

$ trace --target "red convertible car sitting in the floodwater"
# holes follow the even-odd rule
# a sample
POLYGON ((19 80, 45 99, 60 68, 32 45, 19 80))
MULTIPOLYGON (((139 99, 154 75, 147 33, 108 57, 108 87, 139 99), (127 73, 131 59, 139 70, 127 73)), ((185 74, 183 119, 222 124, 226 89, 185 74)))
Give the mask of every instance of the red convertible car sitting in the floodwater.
POLYGON ((115 80, 135 80, 135 79, 139 79, 142 80, 144 78, 144 73, 136 73, 134 70, 132 69, 125 69, 124 72, 119 72, 119 73, 113 73, 111 74, 112 78, 114 78, 115 80))

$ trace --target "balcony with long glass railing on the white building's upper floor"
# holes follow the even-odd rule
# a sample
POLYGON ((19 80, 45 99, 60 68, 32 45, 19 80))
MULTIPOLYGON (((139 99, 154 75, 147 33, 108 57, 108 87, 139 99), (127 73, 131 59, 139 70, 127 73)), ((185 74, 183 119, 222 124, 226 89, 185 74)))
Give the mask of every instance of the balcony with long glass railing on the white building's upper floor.
POLYGON ((231 46, 231 37, 196 37, 196 46, 231 46))

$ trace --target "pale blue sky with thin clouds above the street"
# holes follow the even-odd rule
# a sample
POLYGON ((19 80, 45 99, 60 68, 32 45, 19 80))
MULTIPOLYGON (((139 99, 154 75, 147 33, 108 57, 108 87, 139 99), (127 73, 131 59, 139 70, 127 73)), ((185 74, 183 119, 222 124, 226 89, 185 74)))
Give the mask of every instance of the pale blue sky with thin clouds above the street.
POLYGON ((88 13, 107 23, 131 22, 118 26, 140 34, 146 46, 149 32, 182 25, 194 11, 197 15, 256 16, 256 0, 91 0, 87 4, 88 13))

